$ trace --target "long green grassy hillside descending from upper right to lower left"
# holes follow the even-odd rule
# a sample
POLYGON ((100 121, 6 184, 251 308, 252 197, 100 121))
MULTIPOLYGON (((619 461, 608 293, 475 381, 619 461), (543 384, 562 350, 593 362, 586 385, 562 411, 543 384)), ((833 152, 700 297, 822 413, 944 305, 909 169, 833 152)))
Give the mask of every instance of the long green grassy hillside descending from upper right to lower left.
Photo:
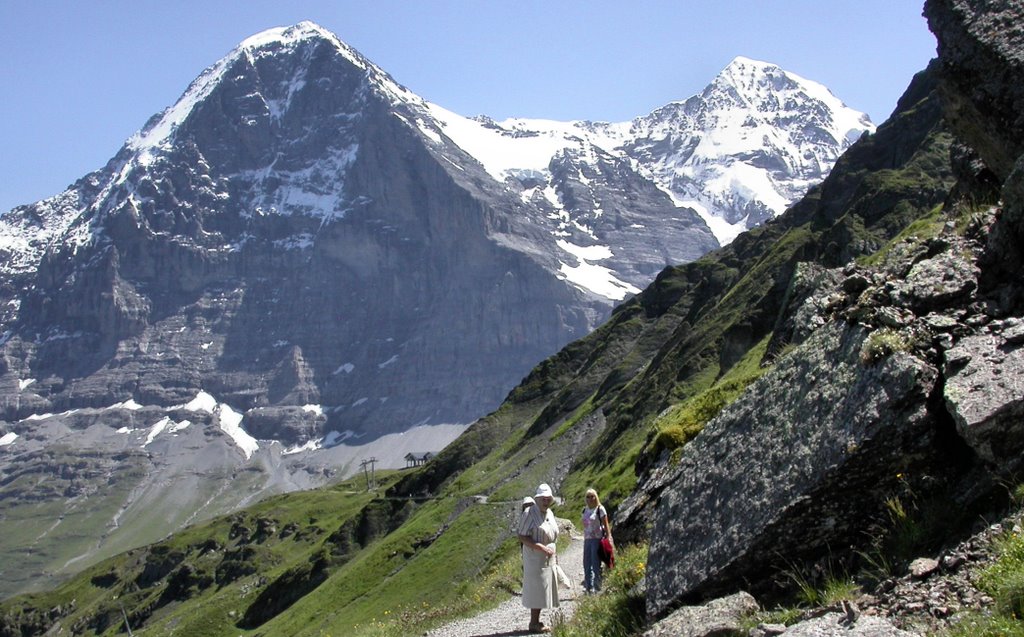
POLYGON ((155 635, 408 634, 495 603, 518 579, 509 527, 523 494, 555 483, 570 519, 589 485, 621 501, 638 465, 685 442, 760 372, 798 262, 874 252, 942 201, 950 138, 931 88, 919 77, 901 113, 786 215, 663 271, 433 462, 389 477, 384 497, 340 486, 274 498, 8 600, 3 621, 45 625, 58 608, 66 626, 92 625, 82 634, 120 634, 123 603, 155 635), (275 534, 258 542, 261 518, 275 534))

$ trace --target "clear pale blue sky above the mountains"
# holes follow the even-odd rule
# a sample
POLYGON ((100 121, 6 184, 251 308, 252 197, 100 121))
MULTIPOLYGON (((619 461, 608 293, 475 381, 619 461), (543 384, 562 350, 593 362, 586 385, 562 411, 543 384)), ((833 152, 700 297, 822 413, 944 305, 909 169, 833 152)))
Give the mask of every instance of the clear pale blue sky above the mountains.
POLYGON ((311 19, 461 115, 627 121, 745 55, 881 123, 935 54, 920 0, 0 0, 0 211, 100 168, 246 37, 311 19))

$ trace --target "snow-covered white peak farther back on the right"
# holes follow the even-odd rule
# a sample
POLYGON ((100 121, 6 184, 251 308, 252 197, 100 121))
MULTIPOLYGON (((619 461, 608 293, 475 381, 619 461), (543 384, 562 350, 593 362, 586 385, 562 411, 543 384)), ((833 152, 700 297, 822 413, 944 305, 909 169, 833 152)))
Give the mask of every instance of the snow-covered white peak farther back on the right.
POLYGON ((700 93, 634 120, 624 150, 728 243, 781 214, 873 130, 821 84, 740 56, 700 93))

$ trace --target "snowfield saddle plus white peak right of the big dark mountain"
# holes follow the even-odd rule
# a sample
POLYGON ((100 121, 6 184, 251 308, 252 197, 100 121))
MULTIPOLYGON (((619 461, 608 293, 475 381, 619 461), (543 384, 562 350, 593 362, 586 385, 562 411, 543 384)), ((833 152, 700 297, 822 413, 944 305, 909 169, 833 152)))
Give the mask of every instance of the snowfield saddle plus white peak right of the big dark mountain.
POLYGON ((495 122, 436 104, 426 110, 495 179, 523 184, 524 200, 541 197, 571 217, 568 225, 589 231, 558 193, 556 159, 570 156, 592 166, 622 161, 677 206, 695 210, 723 244, 783 212, 874 129, 865 114, 821 84, 743 56, 700 93, 632 122, 495 122))

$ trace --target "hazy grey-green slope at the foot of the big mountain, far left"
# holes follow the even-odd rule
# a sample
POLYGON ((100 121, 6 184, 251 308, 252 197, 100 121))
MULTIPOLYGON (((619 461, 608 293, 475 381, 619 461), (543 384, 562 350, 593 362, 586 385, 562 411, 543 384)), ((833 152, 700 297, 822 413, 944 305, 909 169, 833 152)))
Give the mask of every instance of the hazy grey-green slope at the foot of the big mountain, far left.
POLYGON ((61 444, 36 455, 36 462, 0 480, 5 530, 0 535, 0 598, 50 589, 126 547, 153 543, 168 528, 231 510, 251 494, 266 494, 259 467, 220 469, 230 475, 219 476, 187 468, 166 473, 144 450, 120 453, 115 460, 61 444), (59 475, 40 469, 44 465, 58 467, 59 475))

